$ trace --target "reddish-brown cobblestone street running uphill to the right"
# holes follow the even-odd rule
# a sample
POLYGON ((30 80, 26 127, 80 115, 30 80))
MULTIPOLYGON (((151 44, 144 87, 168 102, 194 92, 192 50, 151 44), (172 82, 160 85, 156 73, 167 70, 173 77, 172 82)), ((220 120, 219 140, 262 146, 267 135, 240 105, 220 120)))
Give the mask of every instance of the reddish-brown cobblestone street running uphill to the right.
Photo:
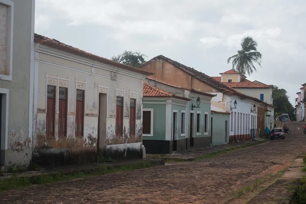
POLYGON ((0 203, 222 203, 260 176, 277 172, 306 151, 302 123, 285 140, 226 155, 129 172, 5 191, 0 203))

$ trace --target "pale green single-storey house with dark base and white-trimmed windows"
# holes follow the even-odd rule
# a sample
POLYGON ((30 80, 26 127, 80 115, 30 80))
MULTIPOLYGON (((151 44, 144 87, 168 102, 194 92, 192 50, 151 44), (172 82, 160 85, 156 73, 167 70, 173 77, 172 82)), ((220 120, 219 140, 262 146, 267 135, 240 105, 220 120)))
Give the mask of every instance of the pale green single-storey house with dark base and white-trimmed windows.
MULTIPOLYGON (((164 117, 158 117, 157 124, 154 125, 154 134, 149 135, 149 137, 145 134, 143 135, 143 142, 148 154, 171 154, 173 151, 185 151, 212 145, 210 101, 215 95, 174 86, 165 81, 155 79, 147 79, 146 82, 147 86, 151 87, 151 90, 157 89, 171 96, 173 95, 187 100, 184 101, 185 104, 183 105, 182 101, 179 101, 182 99, 168 99, 166 103, 166 109, 168 111, 166 110, 165 112, 163 104, 152 101, 156 100, 154 96, 158 92, 152 94, 152 91, 148 92, 148 89, 144 89, 143 108, 155 110, 154 115, 156 115, 157 111, 160 115, 168 113, 168 117, 165 117, 166 123, 162 120, 164 117), (173 99, 177 101, 173 102, 173 99), (171 111, 169 111, 170 109, 171 111), (157 149, 157 142, 166 143, 166 146, 169 146, 169 148, 157 149), (149 149, 150 145, 154 146, 154 151, 149 149)), ((143 122, 145 123, 145 118, 143 122)), ((222 136, 216 135, 216 137, 222 136)))

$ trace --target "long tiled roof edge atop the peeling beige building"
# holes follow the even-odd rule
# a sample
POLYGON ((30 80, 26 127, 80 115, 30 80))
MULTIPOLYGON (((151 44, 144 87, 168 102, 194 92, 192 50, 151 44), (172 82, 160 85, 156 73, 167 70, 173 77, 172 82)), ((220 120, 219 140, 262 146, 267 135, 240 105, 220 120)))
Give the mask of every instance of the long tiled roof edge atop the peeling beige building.
POLYGON ((102 63, 105 63, 105 64, 109 64, 109 65, 112 65, 112 66, 116 66, 116 67, 120 67, 120 68, 129 70, 129 71, 135 71, 135 72, 138 72, 138 73, 141 73, 141 74, 144 74, 144 75, 153 74, 151 72, 148 72, 148 71, 136 68, 136 67, 124 65, 124 64, 109 60, 107 58, 103 58, 103 57, 99 57, 97 55, 93 55, 91 53, 87 53, 84 50, 72 47, 70 45, 62 43, 62 42, 60 42, 58 40, 55 40, 55 39, 50 39, 50 38, 47 38, 45 36, 38 35, 36 33, 34 34, 34 41, 36 43, 39 43, 39 44, 47 45, 49 47, 54 47, 54 48, 63 50, 65 52, 72 53, 74 55, 85 57, 85 58, 88 58, 88 59, 91 59, 91 60, 96 60, 96 61, 99 61, 99 62, 102 62, 102 63))

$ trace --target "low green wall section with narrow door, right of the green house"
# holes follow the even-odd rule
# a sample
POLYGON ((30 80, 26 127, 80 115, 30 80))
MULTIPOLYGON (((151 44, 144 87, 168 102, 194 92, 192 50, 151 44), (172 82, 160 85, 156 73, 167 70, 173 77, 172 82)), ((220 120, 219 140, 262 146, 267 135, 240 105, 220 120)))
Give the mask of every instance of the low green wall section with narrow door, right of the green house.
POLYGON ((230 115, 213 113, 213 146, 224 144, 225 120, 227 120, 227 143, 230 138, 230 115))

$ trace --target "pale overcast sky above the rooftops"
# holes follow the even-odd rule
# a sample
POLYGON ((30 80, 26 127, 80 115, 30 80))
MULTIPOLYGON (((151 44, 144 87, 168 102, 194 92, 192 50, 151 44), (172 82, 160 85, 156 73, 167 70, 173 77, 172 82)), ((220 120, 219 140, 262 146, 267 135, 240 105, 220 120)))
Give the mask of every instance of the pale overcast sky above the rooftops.
POLYGON ((303 0, 36 0, 35 32, 105 58, 164 55, 210 76, 231 69, 227 58, 250 36, 262 67, 247 79, 286 89, 295 105, 306 83, 305 10, 303 0))

